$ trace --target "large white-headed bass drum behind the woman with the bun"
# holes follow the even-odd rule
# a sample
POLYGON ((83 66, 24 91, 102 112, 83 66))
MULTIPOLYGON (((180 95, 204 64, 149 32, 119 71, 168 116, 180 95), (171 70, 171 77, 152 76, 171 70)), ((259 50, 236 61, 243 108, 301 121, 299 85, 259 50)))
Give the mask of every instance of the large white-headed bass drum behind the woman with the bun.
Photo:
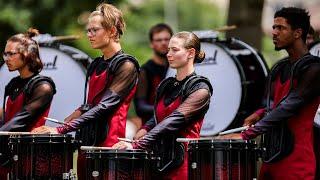
MULTIPOLYGON (((200 135, 212 136, 242 126, 244 118, 262 106, 268 68, 262 56, 240 40, 200 40, 206 58, 195 64, 195 71, 213 86, 200 135)), ((167 76, 174 75, 175 70, 169 69, 167 76)))

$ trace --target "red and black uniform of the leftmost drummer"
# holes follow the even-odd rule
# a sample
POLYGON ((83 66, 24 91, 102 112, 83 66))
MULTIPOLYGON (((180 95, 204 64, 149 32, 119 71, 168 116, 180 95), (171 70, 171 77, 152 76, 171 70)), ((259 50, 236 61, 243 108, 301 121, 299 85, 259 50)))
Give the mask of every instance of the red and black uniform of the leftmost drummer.
MULTIPOLYGON (((0 119, 0 131, 23 132, 43 126, 55 92, 55 84, 48 77, 35 74, 25 79, 20 76, 13 78, 5 88, 4 116, 0 119)), ((1 137, 1 141, 7 139, 1 137)), ((1 154, 0 179, 6 179, 6 174, 10 171, 10 163, 3 156, 1 154)))

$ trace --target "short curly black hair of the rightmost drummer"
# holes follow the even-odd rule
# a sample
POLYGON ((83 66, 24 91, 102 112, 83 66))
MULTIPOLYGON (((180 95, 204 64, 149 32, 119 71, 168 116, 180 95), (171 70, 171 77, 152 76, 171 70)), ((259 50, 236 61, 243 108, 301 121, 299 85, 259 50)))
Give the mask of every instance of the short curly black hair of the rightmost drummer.
POLYGON ((310 28, 310 15, 305 9, 295 7, 284 7, 274 14, 274 18, 283 17, 287 20, 293 30, 302 29, 302 40, 306 42, 310 28))

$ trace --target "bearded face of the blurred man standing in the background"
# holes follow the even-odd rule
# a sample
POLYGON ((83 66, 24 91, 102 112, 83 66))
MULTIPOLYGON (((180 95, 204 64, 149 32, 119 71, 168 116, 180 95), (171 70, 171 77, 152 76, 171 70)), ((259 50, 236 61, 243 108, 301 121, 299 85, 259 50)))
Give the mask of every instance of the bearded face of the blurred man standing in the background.
POLYGON ((171 38, 170 33, 164 30, 154 33, 152 37, 150 46, 153 51, 161 57, 166 57, 166 54, 168 53, 169 40, 171 38))

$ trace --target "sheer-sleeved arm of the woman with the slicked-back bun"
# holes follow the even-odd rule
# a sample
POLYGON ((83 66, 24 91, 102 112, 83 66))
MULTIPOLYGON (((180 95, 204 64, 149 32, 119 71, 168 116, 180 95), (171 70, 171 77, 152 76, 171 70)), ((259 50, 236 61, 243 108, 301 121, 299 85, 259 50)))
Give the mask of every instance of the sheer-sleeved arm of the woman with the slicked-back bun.
POLYGON ((210 93, 208 89, 201 88, 193 91, 175 111, 149 131, 143 139, 135 142, 133 147, 148 149, 159 136, 177 133, 194 120, 203 117, 209 108, 209 104, 210 93))

